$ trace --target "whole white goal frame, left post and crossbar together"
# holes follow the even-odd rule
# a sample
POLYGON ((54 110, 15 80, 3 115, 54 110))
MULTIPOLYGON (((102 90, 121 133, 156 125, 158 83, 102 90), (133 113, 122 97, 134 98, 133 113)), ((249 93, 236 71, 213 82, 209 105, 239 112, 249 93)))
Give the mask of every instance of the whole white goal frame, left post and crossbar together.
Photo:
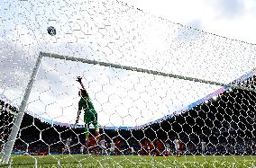
POLYGON ((93 64, 93 65, 98 65, 98 66, 108 66, 108 67, 120 68, 120 69, 124 69, 124 70, 147 73, 147 74, 151 74, 151 75, 169 76, 169 77, 177 78, 177 79, 181 79, 181 80, 187 80, 187 81, 205 83, 205 84, 214 84, 214 85, 220 85, 220 86, 228 86, 230 88, 256 92, 256 89, 242 87, 242 86, 237 85, 242 82, 241 80, 236 80, 235 82, 230 83, 230 84, 223 84, 223 83, 217 83, 214 81, 207 81, 207 80, 193 78, 193 77, 187 77, 187 76, 183 76, 183 75, 168 74, 168 73, 164 73, 164 72, 160 72, 160 71, 149 70, 149 69, 144 69, 144 68, 139 68, 139 67, 122 66, 122 65, 118 65, 118 64, 111 64, 111 63, 100 62, 100 61, 96 61, 96 60, 89 60, 89 59, 81 58, 81 57, 68 57, 68 56, 62 56, 62 55, 58 55, 58 54, 40 52, 39 57, 37 57, 37 59, 36 59, 35 66, 32 69, 32 75, 30 77, 29 83, 27 84, 25 93, 23 95, 23 101, 21 102, 21 105, 19 107, 19 112, 14 119, 14 125, 13 125, 11 133, 8 137, 8 140, 5 144, 4 155, 2 157, 2 164, 9 163, 9 159, 10 159, 12 151, 13 151, 15 139, 18 135, 21 123, 23 121, 24 110, 25 110, 27 102, 29 100, 29 96, 32 91, 32 86, 36 80, 36 75, 38 73, 39 67, 41 66, 41 60, 43 57, 52 57, 52 58, 82 62, 82 63, 87 63, 87 64, 93 64))

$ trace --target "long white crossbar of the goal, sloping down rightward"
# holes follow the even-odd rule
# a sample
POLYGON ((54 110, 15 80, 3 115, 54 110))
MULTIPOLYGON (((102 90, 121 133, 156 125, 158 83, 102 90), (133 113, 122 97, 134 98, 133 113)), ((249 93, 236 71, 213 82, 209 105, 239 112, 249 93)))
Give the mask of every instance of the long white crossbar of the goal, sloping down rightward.
POLYGON ((139 68, 139 67, 122 66, 122 65, 118 65, 118 64, 100 62, 100 61, 96 61, 96 60, 89 60, 89 59, 85 59, 85 58, 82 58, 82 57, 68 57, 68 56, 61 56, 61 55, 58 55, 58 54, 45 53, 45 52, 41 52, 41 54, 43 55, 43 57, 54 57, 54 58, 59 58, 59 59, 64 59, 64 60, 69 60, 69 61, 77 61, 77 62, 82 62, 82 63, 87 63, 87 64, 93 64, 93 65, 97 65, 97 66, 114 67, 114 68, 129 70, 129 71, 147 73, 147 74, 151 74, 151 75, 167 76, 167 77, 172 77, 172 78, 176 78, 176 79, 187 80, 187 81, 192 81, 192 82, 197 82, 197 83, 228 86, 228 87, 231 87, 231 88, 256 93, 256 90, 253 89, 253 88, 242 87, 242 86, 239 86, 239 85, 233 84, 233 83, 231 83, 231 84, 218 83, 218 82, 214 82, 214 81, 198 79, 198 78, 195 78, 195 77, 188 77, 188 76, 184 76, 184 75, 174 75, 174 74, 169 74, 169 73, 164 73, 164 72, 160 72, 160 71, 144 69, 144 68, 139 68))

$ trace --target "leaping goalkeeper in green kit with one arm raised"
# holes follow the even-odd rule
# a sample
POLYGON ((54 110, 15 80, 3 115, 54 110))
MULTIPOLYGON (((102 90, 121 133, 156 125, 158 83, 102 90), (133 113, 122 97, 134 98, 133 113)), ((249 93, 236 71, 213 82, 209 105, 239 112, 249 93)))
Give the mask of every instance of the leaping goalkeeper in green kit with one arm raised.
POLYGON ((79 91, 80 101, 78 102, 78 117, 76 120, 76 124, 78 124, 79 116, 82 111, 85 111, 84 115, 84 122, 85 122, 85 133, 86 133, 86 140, 89 137, 89 125, 93 124, 96 130, 96 137, 99 133, 99 128, 97 124, 97 113, 94 108, 93 103, 91 102, 91 99, 89 98, 89 95, 87 93, 87 90, 84 87, 84 84, 82 83, 82 77, 78 76, 78 83, 81 84, 82 89, 79 91))

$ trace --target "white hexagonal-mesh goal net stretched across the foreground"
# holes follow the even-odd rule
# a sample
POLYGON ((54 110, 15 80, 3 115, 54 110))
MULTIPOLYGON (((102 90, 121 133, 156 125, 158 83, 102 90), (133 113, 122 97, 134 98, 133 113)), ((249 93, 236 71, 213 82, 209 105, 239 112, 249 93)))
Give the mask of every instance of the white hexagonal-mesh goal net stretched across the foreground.
POLYGON ((2 4, 3 164, 255 166, 255 45, 120 1, 2 4))

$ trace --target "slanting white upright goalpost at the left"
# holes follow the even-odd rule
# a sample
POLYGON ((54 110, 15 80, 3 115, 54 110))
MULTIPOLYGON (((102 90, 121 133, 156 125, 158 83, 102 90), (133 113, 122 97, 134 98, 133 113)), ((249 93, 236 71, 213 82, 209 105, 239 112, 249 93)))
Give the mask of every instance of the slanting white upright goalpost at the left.
POLYGON ((39 57, 37 57, 37 59, 36 59, 35 66, 32 69, 32 75, 31 75, 30 81, 29 81, 29 83, 26 87, 25 93, 23 95, 23 101, 22 101, 22 103, 19 107, 19 112, 15 116, 14 125, 13 125, 13 128, 12 128, 11 134, 8 137, 8 140, 5 144, 5 150, 4 150, 4 155, 3 155, 3 158, 2 158, 2 164, 8 164, 9 159, 11 157, 11 154, 12 154, 12 151, 13 151, 13 148, 14 148, 14 143, 15 143, 16 137, 18 135, 20 126, 22 124, 22 121, 23 121, 24 111, 25 111, 30 93, 32 91, 32 85, 34 84, 36 75, 37 75, 38 70, 39 70, 39 66, 41 65, 41 58, 42 58, 42 54, 40 52, 39 57))

